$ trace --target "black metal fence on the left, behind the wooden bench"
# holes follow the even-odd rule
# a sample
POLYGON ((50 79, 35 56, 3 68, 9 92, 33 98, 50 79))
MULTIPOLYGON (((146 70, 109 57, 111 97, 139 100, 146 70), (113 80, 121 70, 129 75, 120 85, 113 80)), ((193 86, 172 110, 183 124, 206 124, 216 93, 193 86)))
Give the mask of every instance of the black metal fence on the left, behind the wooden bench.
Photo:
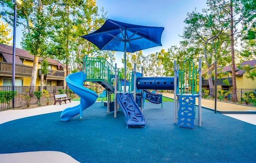
POLYGON ((67 87, 0 86, 0 110, 53 101, 53 95, 59 94, 59 89, 67 89, 67 87), (38 93, 41 95, 37 96, 38 93))

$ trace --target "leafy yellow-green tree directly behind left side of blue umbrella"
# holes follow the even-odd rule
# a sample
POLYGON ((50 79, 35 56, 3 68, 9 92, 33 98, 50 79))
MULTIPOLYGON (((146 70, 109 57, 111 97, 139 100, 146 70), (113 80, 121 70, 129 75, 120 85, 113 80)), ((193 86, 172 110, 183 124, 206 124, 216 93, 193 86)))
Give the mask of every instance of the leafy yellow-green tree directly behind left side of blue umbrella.
POLYGON ((52 35, 52 55, 58 60, 63 60, 68 68, 82 71, 82 58, 84 56, 100 57, 113 62, 114 52, 100 51, 88 40, 81 38, 101 27, 106 20, 106 13, 102 8, 99 12, 95 0, 69 0, 62 6, 57 6, 54 15, 55 32, 52 35))

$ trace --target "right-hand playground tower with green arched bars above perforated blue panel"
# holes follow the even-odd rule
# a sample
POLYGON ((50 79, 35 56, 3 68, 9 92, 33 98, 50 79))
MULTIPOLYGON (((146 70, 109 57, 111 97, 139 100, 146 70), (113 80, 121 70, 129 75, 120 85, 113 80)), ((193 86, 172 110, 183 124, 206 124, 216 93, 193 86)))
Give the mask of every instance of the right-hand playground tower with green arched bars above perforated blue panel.
POLYGON ((196 98, 198 98, 198 126, 201 127, 201 58, 198 68, 195 68, 192 60, 183 62, 183 70, 174 61, 174 123, 179 127, 194 128, 196 112, 196 98))

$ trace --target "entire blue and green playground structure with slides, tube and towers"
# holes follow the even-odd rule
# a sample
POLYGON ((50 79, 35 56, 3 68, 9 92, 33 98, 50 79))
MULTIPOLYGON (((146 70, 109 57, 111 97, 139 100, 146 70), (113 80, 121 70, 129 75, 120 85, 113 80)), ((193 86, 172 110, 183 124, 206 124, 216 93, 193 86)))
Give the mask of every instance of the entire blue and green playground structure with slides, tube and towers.
POLYGON ((162 103, 162 95, 155 94, 151 90, 174 90, 174 123, 179 127, 194 128, 195 98, 198 97, 198 121, 201 126, 201 59, 199 68, 195 69, 192 60, 185 60, 183 70, 179 69, 174 61, 174 77, 143 77, 141 72, 136 72, 134 64, 129 91, 122 91, 121 74, 107 60, 102 58, 90 58, 85 56, 83 60, 83 72, 76 72, 67 76, 66 81, 70 89, 80 96, 80 105, 67 108, 61 114, 62 121, 68 121, 79 114, 82 120, 82 110, 95 103, 98 95, 83 87, 83 83, 97 82, 107 91, 107 113, 113 112, 117 117, 117 111, 121 108, 126 117, 128 126, 145 126, 143 115, 144 100, 152 103, 162 103), (187 66, 185 66, 188 64, 187 66), (110 101, 110 95, 114 99, 110 101), (113 105, 114 107, 110 107, 113 105))

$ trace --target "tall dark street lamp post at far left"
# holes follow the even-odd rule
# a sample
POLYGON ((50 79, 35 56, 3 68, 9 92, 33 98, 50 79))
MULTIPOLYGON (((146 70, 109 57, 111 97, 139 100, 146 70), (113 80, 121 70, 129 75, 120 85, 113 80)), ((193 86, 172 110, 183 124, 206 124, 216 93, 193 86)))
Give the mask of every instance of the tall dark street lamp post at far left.
MULTIPOLYGON (((13 78, 12 78, 12 90, 15 91, 15 56, 16 56, 16 15, 17 15, 17 5, 21 6, 21 0, 14 0, 14 18, 13 18, 13 78)), ((13 108, 14 108, 14 98, 13 98, 13 108)))

